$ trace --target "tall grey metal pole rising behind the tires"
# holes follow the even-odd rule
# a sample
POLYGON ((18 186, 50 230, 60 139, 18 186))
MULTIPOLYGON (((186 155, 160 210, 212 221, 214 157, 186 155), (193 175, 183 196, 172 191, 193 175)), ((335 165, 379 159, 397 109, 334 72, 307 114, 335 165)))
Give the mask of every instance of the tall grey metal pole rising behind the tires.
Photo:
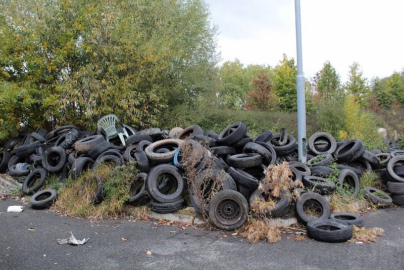
POLYGON ((297 51, 297 150, 299 161, 307 162, 306 148, 306 95, 305 77, 303 76, 303 60, 301 57, 301 25, 300 0, 294 0, 294 13, 296 17, 296 51, 297 51))

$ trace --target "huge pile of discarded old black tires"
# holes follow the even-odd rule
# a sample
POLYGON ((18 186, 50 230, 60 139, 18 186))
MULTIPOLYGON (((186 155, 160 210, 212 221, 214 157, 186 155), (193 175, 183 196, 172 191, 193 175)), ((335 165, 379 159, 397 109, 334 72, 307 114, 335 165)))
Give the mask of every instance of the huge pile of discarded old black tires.
MULTIPOLYGON (((294 185, 282 191, 266 216, 282 217, 294 209, 298 221, 307 224, 310 237, 331 242, 346 241, 352 236, 350 225, 363 223, 360 216, 330 212, 326 196, 335 191, 336 185, 348 187, 349 196, 355 197, 359 193, 359 177, 374 170, 393 195, 391 198, 387 192, 367 187, 369 200, 383 207, 392 201, 404 204, 404 156, 395 146, 385 153, 377 149, 367 151, 361 140, 336 142, 330 134, 318 132, 308 141, 308 162, 304 164, 298 162, 296 140, 286 129, 277 134, 267 130, 251 138, 242 122, 235 122, 220 133, 204 131, 198 125, 171 130, 124 128, 130 134, 125 146, 119 138, 108 142, 99 131, 88 132, 75 126, 21 133, 4 145, 0 172, 8 170, 12 176, 25 177, 23 193, 32 195, 33 208, 42 209, 56 198, 55 190, 41 190, 49 174, 58 174, 64 181, 103 162, 121 166, 135 161, 140 173, 133 179, 128 203, 149 204, 154 212, 173 213, 187 205, 189 195, 190 204, 196 211, 207 213, 215 227, 234 230, 246 221, 252 202, 257 198, 269 199, 265 194, 271 185, 263 183, 264 190, 259 189, 268 165, 287 161, 293 182, 302 183, 304 188, 294 185), (186 164, 180 159, 184 142, 201 151, 194 166, 196 177, 191 182, 185 179, 186 164), (340 170, 338 183, 327 178, 333 173, 328 167, 333 161, 340 170), (213 187, 202 187, 201 183, 211 183, 211 178, 220 179, 220 190, 210 201, 201 201, 194 191, 199 189, 204 196, 209 193, 213 187), (299 193, 300 199, 290 200, 291 193, 299 193), (315 217, 307 213, 309 208, 318 210, 315 217)), ((103 183, 97 181, 94 203, 103 200, 103 183)))

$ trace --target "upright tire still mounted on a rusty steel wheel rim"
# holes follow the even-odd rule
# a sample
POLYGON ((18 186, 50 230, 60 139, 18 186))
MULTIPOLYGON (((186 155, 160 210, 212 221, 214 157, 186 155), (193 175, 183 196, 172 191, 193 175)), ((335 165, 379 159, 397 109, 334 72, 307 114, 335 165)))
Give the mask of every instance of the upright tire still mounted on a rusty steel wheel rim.
POLYGON ((247 200, 235 190, 222 190, 212 199, 209 218, 220 230, 240 228, 248 217, 247 200))

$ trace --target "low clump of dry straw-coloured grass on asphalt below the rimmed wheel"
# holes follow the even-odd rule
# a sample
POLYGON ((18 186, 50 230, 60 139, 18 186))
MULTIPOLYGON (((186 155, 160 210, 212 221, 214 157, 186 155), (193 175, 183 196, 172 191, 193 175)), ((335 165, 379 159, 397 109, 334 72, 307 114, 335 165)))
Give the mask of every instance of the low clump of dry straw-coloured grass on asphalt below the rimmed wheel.
POLYGON ((265 240, 268 243, 281 241, 279 229, 268 226, 263 220, 248 220, 243 227, 237 230, 237 233, 246 238, 251 244, 260 240, 265 240))

